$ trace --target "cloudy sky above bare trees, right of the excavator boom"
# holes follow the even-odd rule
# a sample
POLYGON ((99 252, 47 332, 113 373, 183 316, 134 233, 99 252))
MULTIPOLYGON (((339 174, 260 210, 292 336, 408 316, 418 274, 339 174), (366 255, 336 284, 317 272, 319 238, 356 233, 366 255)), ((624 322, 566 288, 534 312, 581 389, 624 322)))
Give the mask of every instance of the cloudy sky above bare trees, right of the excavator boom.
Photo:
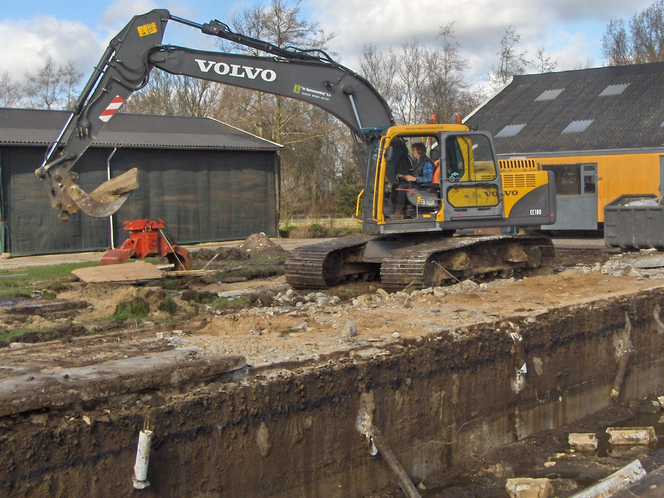
POLYGON ((631 17, 652 0, 365 0, 309 1, 313 17, 328 31, 339 33, 331 48, 343 55, 345 64, 359 67, 363 44, 398 48, 414 37, 429 46, 437 44, 440 26, 456 21, 457 41, 469 59, 469 76, 486 74, 495 63, 495 52, 505 27, 521 33, 521 51, 533 56, 544 46, 558 58, 560 70, 586 64, 593 58, 600 65, 600 39, 612 17, 631 17))

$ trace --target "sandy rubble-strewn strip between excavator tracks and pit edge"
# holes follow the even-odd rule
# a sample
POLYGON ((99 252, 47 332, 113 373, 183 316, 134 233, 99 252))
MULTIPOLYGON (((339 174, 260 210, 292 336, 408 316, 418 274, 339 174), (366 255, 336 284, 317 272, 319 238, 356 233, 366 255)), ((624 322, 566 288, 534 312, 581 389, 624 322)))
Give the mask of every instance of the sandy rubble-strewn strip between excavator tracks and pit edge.
POLYGON ((499 281, 486 290, 458 295, 416 296, 410 308, 404 308, 396 297, 369 305, 345 304, 274 316, 270 316, 273 311, 250 310, 214 317, 210 325, 188 339, 213 351, 244 355, 248 363, 258 366, 380 342, 391 339, 394 333, 408 337, 514 315, 537 319, 552 307, 659 287, 664 287, 661 280, 570 270, 515 282, 499 281), (355 337, 342 337, 348 321, 357 326, 355 337), (303 323, 306 329, 294 329, 303 323), (264 332, 258 335, 251 329, 264 332))

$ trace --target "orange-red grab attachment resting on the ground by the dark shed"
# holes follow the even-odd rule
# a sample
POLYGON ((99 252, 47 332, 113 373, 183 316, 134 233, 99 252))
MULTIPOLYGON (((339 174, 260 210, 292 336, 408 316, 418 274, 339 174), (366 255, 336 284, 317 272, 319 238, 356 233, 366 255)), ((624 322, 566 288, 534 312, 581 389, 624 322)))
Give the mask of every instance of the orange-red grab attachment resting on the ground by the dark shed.
POLYGON ((112 249, 102 258, 100 265, 120 264, 129 258, 141 260, 164 256, 175 265, 175 270, 191 270, 191 255, 185 248, 175 244, 163 220, 125 221, 129 238, 118 249, 112 249))

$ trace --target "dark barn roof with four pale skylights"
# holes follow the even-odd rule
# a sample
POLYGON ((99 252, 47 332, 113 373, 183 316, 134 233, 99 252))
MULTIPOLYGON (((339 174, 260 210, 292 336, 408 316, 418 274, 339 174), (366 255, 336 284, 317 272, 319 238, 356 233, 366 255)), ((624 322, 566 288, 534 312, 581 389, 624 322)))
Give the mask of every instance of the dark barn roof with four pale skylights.
POLYGON ((515 76, 463 122, 497 153, 661 147, 664 62, 515 76))

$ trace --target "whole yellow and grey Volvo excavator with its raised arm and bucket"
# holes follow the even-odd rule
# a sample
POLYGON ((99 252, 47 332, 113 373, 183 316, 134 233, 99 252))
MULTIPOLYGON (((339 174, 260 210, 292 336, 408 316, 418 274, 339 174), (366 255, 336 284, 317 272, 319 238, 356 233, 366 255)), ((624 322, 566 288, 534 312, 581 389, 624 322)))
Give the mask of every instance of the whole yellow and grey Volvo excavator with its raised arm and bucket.
POLYGON ((380 278, 386 288, 424 288, 466 278, 504 278, 536 270, 554 258, 546 236, 455 235, 457 230, 553 224, 556 197, 550 171, 527 159, 497 161, 491 135, 463 124, 395 125, 390 107, 373 85, 323 50, 281 48, 234 33, 220 21, 201 25, 163 9, 133 17, 110 41, 35 171, 52 207, 61 210, 61 221, 78 210, 109 216, 138 187, 132 170, 88 195, 70 169, 122 103, 147 84, 155 67, 296 98, 326 110, 351 129, 365 181, 356 212, 365 234, 293 250, 286 262, 293 287, 325 288, 345 280, 380 278), (266 55, 162 44, 169 21, 266 55), (426 144, 436 165, 432 181, 403 180, 412 178, 408 145, 413 143, 426 144), (401 207, 396 203, 404 202, 397 199, 406 199, 403 214, 394 213, 401 207))

